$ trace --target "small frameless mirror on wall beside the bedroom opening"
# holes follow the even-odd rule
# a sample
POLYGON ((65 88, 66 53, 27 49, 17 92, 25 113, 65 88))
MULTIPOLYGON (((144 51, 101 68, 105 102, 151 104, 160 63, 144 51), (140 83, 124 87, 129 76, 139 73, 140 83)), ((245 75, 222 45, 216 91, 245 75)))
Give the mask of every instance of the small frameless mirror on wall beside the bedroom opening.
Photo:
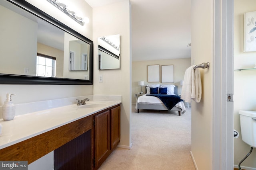
POLYGON ((120 35, 98 38, 99 69, 120 68, 120 35))

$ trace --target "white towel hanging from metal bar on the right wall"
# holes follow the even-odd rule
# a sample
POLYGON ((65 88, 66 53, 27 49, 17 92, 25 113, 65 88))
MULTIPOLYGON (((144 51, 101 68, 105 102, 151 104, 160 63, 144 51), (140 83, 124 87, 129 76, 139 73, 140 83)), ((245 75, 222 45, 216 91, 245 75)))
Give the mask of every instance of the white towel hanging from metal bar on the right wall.
POLYGON ((196 68, 194 70, 194 65, 186 69, 184 74, 184 81, 181 90, 180 98, 184 102, 191 102, 191 98, 196 102, 201 101, 202 94, 202 84, 200 71, 196 68))

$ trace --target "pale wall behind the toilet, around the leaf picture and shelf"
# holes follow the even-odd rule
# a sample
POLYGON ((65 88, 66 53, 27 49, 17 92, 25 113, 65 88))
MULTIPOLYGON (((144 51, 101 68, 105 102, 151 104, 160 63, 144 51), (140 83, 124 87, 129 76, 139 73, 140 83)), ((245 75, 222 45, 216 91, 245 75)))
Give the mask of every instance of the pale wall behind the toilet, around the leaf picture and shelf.
MULTIPOLYGON (((234 69, 254 68, 256 52, 243 52, 244 13, 256 11, 255 0, 234 0, 234 69)), ((239 110, 256 111, 256 70, 234 71, 234 129, 240 136, 234 139, 234 165, 250 151, 250 146, 242 141, 239 110)), ((241 164, 241 166, 256 168, 256 150, 241 164)))

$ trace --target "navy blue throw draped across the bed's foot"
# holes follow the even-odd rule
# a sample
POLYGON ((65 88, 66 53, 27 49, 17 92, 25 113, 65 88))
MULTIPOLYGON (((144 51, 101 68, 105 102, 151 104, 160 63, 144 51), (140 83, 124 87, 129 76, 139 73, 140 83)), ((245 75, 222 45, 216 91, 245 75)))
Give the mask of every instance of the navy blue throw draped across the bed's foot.
POLYGON ((172 109, 178 102, 183 102, 180 96, 168 95, 168 94, 146 94, 146 96, 154 96, 159 98, 168 110, 172 109))

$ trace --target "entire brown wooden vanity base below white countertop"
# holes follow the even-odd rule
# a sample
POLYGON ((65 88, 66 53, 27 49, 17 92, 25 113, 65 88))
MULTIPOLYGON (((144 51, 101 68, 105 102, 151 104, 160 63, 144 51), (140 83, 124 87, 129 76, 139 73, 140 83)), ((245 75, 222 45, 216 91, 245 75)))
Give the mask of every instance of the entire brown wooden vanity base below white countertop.
POLYGON ((0 149, 0 160, 28 164, 54 150, 55 170, 93 170, 120 141, 120 104, 0 149))

